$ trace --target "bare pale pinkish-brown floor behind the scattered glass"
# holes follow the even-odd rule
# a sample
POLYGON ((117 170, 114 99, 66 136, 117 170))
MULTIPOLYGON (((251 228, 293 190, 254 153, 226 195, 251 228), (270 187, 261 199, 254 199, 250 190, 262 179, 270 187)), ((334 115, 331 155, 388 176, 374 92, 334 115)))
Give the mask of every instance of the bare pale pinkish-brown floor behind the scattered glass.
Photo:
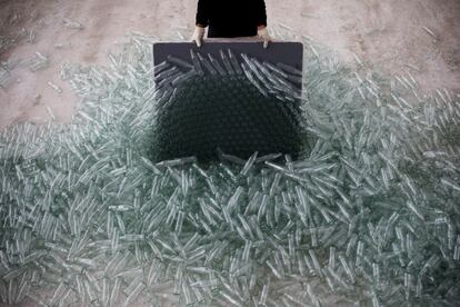
MULTIPOLYGON (((0 88, 0 128, 43 122, 47 107, 58 120, 70 120, 78 98, 60 79, 63 62, 103 65, 130 31, 188 38, 196 6, 197 0, 0 0, 0 42, 14 39, 0 47, 1 61, 28 59, 36 51, 50 58, 43 70, 12 69, 13 82, 0 88), (66 19, 83 29, 66 27, 66 19)), ((308 34, 343 61, 353 63, 356 53, 388 75, 410 70, 426 91, 460 89, 459 0, 267 0, 267 7, 269 24, 308 34)))

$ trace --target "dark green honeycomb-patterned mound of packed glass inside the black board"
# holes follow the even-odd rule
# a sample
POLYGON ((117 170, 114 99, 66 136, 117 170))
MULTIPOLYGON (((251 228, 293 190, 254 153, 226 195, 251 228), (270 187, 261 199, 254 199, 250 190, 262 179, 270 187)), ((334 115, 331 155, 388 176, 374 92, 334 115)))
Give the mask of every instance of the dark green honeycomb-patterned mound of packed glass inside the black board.
POLYGON ((153 160, 216 160, 217 148, 244 159, 256 151, 296 157, 301 149, 299 105, 263 96, 241 75, 196 76, 160 108, 153 160))

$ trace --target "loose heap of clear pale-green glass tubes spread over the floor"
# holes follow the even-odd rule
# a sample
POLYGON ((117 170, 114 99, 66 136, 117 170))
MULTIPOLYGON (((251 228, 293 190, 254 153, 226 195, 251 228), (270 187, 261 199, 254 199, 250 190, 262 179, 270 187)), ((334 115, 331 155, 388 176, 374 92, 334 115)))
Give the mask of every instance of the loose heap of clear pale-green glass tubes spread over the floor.
POLYGON ((458 93, 353 73, 306 41, 311 150, 152 165, 150 42, 64 71, 72 125, 1 135, 3 303, 458 305, 458 93))

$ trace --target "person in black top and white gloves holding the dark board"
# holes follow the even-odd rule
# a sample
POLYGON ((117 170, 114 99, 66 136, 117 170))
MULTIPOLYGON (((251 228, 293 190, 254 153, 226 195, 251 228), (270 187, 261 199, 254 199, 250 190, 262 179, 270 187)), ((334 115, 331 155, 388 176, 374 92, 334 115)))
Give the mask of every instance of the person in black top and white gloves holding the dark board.
POLYGON ((208 38, 258 36, 263 40, 263 48, 271 41, 264 0, 199 0, 191 38, 198 47, 201 47, 208 26, 208 38))

